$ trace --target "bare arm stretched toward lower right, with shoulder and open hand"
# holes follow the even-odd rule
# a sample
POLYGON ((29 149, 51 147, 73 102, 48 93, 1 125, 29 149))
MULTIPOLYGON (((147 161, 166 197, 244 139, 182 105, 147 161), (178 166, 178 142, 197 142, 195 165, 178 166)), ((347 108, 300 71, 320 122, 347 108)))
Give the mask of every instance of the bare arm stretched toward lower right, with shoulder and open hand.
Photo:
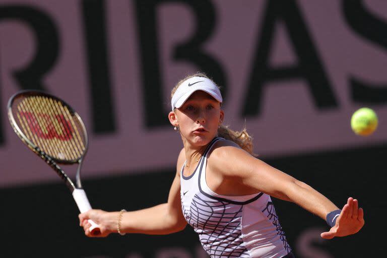
MULTIPOLYGON (((211 153, 211 159, 213 162, 209 165, 215 173, 221 174, 225 181, 233 181, 251 192, 262 191, 278 199, 294 202, 324 220, 328 213, 339 209, 306 183, 252 157, 228 141, 222 141, 217 146, 211 153)), ((350 198, 336 225, 321 237, 332 238, 358 232, 364 225, 362 215, 358 202, 350 198)))

